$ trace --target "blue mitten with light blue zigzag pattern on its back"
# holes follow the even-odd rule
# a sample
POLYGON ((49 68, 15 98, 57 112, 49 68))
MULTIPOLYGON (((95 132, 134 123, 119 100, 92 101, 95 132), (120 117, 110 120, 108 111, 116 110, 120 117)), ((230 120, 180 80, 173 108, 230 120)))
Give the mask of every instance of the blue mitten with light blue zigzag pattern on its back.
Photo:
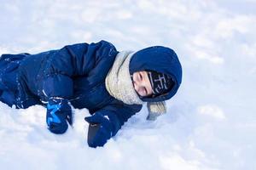
POLYGON ((51 98, 47 105, 46 122, 52 133, 65 133, 67 122, 72 125, 72 109, 67 99, 51 98))

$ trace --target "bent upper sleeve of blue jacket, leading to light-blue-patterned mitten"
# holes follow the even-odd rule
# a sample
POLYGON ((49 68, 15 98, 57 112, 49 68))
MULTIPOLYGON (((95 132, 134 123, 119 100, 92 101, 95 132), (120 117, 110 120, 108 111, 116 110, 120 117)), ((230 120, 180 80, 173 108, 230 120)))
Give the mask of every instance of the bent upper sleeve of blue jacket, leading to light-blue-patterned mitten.
POLYGON ((105 41, 78 43, 53 50, 40 71, 43 78, 39 88, 47 98, 68 99, 73 96, 73 77, 93 75, 99 69, 108 72, 109 68, 101 65, 114 59, 117 53, 114 46, 105 41))

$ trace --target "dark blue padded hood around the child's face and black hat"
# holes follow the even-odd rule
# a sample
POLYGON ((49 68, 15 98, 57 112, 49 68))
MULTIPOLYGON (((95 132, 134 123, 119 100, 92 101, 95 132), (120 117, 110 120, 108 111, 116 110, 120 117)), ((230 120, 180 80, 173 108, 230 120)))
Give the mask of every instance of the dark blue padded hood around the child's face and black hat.
POLYGON ((143 98, 142 100, 145 102, 171 99, 177 93, 177 89, 182 82, 182 66, 177 54, 171 48, 154 46, 139 50, 132 56, 129 69, 131 75, 137 71, 158 71, 169 75, 175 82, 170 92, 154 98, 143 98))

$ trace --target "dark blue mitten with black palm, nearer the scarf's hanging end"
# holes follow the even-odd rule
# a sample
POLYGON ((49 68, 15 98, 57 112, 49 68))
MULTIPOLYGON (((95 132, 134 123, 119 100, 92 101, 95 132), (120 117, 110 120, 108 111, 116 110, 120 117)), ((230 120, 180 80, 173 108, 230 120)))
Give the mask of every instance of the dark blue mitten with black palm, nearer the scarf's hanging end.
POLYGON ((87 137, 90 147, 103 146, 117 133, 116 126, 119 124, 116 122, 117 118, 108 111, 96 112, 93 116, 85 117, 84 120, 90 123, 87 137))

